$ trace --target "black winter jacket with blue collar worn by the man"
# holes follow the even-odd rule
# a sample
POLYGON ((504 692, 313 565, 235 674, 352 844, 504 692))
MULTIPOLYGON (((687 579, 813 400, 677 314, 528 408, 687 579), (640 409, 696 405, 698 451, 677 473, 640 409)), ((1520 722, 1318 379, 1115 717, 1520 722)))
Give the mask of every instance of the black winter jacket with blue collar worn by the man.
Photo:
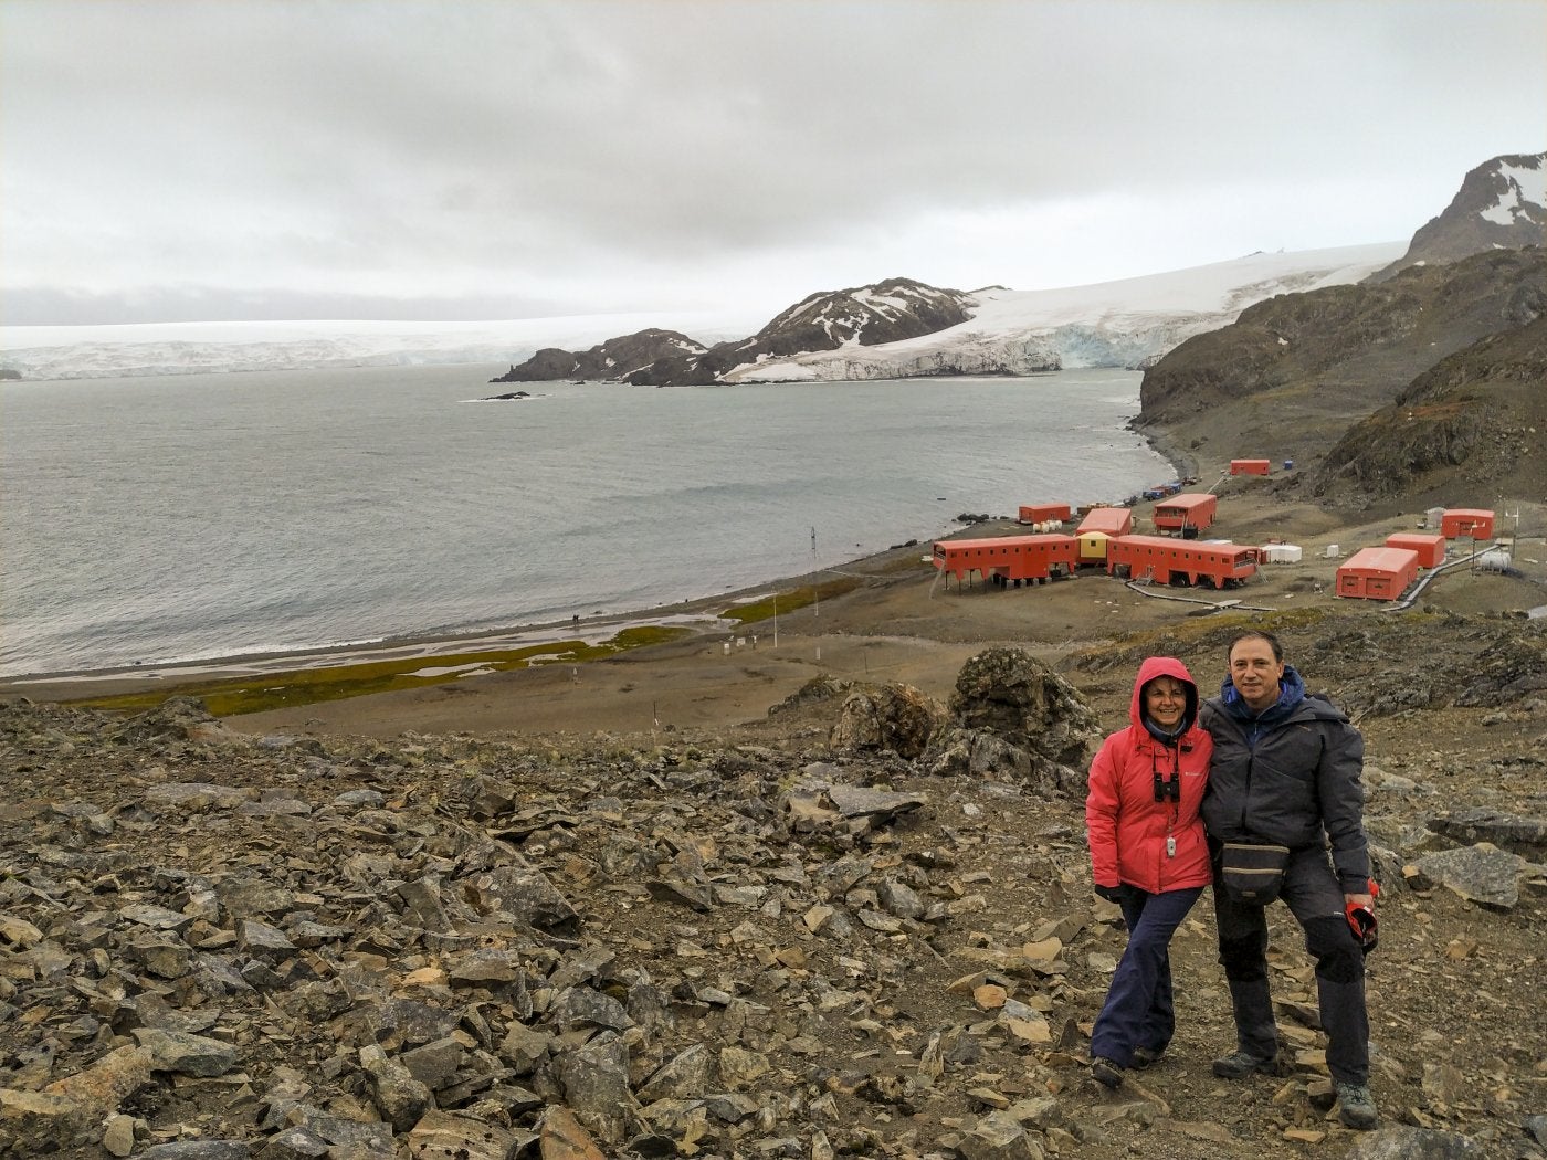
MULTIPOLYGON (((1272 713, 1272 710, 1270 710, 1272 713)), ((1303 698, 1261 728, 1210 698, 1199 724, 1214 739, 1204 826, 1216 841, 1270 841, 1290 849, 1332 844, 1344 894, 1369 888, 1364 838, 1364 738, 1324 698, 1303 698)))

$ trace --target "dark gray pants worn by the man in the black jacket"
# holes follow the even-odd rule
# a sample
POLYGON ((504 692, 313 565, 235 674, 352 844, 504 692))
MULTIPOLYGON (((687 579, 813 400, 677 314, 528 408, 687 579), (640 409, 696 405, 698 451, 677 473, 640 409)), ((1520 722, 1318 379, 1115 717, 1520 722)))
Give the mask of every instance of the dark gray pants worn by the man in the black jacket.
MULTIPOLYGON (((1369 1081, 1369 1015, 1364 1010, 1364 953, 1343 914, 1343 888, 1326 851, 1290 854, 1279 894, 1306 931, 1316 960, 1316 996, 1327 1033, 1327 1069, 1337 1083, 1369 1081)), ((1231 902, 1214 874, 1219 962, 1230 981, 1241 1050, 1259 1059, 1278 1055, 1278 1024, 1267 979, 1267 913, 1231 902)))

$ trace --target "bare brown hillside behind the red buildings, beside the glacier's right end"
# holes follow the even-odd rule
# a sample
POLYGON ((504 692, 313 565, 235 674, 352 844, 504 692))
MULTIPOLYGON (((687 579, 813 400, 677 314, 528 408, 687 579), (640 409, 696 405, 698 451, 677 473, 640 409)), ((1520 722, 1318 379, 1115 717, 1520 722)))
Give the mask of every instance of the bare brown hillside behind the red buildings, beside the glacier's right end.
MULTIPOLYGON (((1417 266, 1378 285, 1279 295, 1149 368, 1135 425, 1193 433, 1194 447, 1214 447, 1221 458, 1247 447, 1310 466, 1349 424, 1411 396, 1406 410, 1422 401, 1431 408, 1420 435, 1400 430, 1406 411, 1388 411, 1315 476, 1327 487, 1361 458, 1357 486, 1392 473, 1400 483, 1381 487, 1411 484, 1414 473, 1454 467, 1491 436, 1532 425, 1539 396, 1532 384, 1541 382, 1533 323, 1544 306, 1541 247, 1417 266), (1476 404, 1460 405, 1471 397, 1476 404)), ((1539 455, 1541 442, 1528 450, 1539 455)))

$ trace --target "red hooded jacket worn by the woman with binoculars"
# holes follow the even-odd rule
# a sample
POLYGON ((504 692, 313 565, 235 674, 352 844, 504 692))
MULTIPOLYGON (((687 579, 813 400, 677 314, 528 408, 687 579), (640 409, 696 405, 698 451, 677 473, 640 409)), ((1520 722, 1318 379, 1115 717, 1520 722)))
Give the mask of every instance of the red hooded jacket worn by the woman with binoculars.
POLYGON ((1176 657, 1154 656, 1139 667, 1128 708, 1132 724, 1106 738, 1091 763, 1084 826, 1097 886, 1126 882, 1160 894, 1213 880, 1204 823, 1197 817, 1213 741, 1197 727, 1197 684, 1176 657), (1140 716, 1143 687, 1162 676, 1187 685, 1187 713, 1176 744, 1156 739, 1140 716), (1166 784, 1180 780, 1180 801, 1170 792, 1165 801, 1156 801, 1156 778, 1166 784), (1173 855, 1166 854, 1168 837, 1176 840, 1173 855))

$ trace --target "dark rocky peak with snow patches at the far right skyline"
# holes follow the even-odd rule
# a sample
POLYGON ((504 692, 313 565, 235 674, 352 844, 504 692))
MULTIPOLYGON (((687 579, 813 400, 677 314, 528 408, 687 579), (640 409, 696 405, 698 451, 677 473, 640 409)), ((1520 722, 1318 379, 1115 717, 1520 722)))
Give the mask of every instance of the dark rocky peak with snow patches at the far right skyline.
POLYGON ((1385 281, 1416 264, 1459 261, 1482 251, 1544 243, 1547 153, 1507 153, 1471 170, 1445 212, 1429 218, 1412 235, 1408 252, 1368 281, 1385 281))

